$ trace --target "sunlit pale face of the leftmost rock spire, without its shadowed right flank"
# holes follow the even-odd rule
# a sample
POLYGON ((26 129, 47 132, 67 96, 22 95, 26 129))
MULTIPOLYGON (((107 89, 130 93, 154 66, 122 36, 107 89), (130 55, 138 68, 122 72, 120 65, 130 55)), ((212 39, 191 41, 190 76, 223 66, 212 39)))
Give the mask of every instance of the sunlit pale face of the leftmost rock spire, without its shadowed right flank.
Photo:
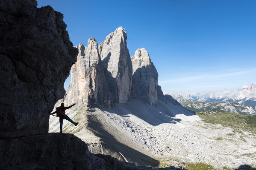
POLYGON ((80 43, 78 51, 77 62, 71 67, 71 84, 65 96, 68 105, 86 104, 89 100, 97 102, 100 55, 96 39, 88 39, 88 47, 80 43))

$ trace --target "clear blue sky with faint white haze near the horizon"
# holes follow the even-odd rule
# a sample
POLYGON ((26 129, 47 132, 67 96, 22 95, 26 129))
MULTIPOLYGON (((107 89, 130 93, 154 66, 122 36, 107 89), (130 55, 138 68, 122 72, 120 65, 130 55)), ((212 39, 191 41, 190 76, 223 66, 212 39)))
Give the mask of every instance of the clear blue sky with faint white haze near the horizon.
MULTIPOLYGON (((38 0, 64 14, 74 45, 123 26, 146 48, 166 92, 235 91, 256 83, 255 0, 38 0)), ((70 77, 65 82, 67 90, 70 77)))

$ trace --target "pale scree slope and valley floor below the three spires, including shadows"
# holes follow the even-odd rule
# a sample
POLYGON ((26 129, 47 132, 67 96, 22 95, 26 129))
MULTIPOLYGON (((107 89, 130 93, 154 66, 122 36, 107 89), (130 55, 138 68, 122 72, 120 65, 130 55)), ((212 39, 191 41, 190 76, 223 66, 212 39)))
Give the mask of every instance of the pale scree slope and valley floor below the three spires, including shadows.
MULTIPOLYGON (((63 132, 82 139, 91 153, 152 167, 255 166, 255 116, 195 114, 177 105, 159 101, 153 106, 136 99, 113 108, 76 105, 66 113, 79 125, 64 121, 63 132)), ((49 132, 59 132, 56 117, 50 117, 49 132)))

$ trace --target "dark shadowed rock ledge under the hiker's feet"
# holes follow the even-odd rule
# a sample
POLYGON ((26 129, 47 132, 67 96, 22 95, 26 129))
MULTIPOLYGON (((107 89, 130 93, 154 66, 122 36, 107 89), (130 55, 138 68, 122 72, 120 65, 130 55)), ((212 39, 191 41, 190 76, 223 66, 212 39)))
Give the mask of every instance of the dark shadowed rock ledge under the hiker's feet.
POLYGON ((0 169, 105 170, 104 161, 72 134, 48 133, 0 140, 0 169))

